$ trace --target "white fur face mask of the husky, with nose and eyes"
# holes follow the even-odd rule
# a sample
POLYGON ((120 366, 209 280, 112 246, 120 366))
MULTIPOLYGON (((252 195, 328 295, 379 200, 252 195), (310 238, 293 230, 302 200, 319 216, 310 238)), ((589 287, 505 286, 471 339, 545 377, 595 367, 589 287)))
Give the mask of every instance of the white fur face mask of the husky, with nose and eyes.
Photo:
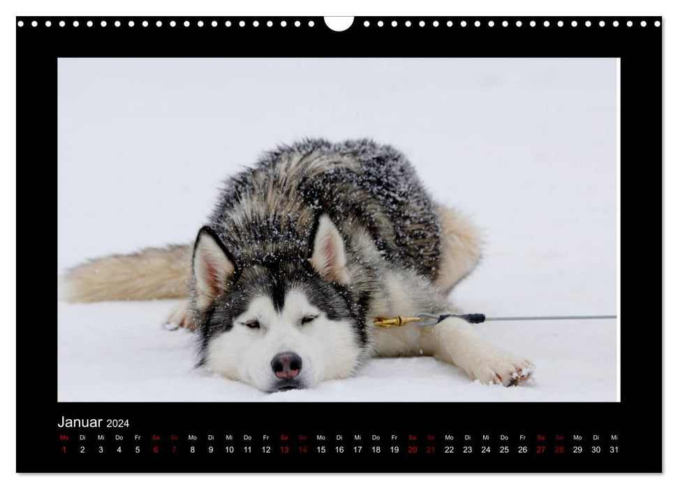
POLYGON ((329 319, 302 290, 290 289, 280 311, 265 295, 253 298, 205 353, 209 370, 273 392, 347 377, 360 349, 350 321, 329 319))

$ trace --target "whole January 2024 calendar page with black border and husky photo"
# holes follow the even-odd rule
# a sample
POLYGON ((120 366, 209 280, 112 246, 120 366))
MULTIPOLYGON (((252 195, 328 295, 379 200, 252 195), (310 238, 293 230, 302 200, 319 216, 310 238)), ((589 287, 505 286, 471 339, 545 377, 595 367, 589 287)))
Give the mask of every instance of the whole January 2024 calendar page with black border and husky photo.
POLYGON ((661 17, 16 31, 18 472, 661 472, 661 17))

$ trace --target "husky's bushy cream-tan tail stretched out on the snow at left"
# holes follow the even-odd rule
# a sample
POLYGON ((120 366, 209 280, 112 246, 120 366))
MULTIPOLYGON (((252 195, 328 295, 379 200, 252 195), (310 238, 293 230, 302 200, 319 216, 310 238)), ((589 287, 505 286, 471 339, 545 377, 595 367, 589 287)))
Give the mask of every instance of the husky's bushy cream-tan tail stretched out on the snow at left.
POLYGON ((96 258, 68 270, 59 281, 66 302, 188 298, 191 245, 147 248, 96 258))

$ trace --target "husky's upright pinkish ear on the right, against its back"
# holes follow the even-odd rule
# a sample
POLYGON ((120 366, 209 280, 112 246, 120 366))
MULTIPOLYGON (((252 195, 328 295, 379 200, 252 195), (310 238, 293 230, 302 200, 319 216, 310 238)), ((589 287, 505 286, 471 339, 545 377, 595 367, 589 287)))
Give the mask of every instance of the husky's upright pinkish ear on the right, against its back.
POLYGON ((320 216, 311 252, 311 265, 323 279, 348 285, 350 277, 346 268, 346 248, 337 226, 326 214, 320 216))

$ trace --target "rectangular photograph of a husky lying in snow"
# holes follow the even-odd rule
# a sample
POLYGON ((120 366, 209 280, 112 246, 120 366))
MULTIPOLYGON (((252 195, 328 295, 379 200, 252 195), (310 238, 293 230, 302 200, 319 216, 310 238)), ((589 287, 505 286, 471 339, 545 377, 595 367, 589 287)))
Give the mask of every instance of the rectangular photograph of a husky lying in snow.
POLYGON ((617 60, 57 73, 60 402, 619 399, 617 60))

